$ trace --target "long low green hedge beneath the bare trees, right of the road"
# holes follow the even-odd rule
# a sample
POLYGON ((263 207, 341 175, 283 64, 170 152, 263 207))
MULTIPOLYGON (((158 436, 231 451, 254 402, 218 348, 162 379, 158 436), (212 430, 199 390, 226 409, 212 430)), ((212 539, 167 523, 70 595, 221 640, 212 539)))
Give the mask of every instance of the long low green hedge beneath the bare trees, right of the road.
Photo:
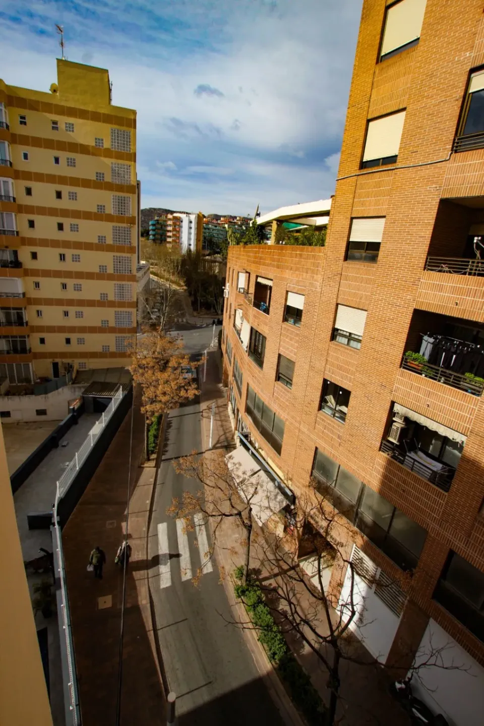
POLYGON ((235 595, 242 600, 250 619, 258 629, 258 640, 261 641, 271 658, 274 668, 284 682, 292 701, 298 706, 306 721, 311 726, 324 724, 324 704, 319 693, 311 683, 308 674, 300 666, 288 648, 280 627, 276 624, 271 611, 266 605, 260 585, 250 579, 242 582, 244 568, 238 567, 234 572, 236 584, 235 595))

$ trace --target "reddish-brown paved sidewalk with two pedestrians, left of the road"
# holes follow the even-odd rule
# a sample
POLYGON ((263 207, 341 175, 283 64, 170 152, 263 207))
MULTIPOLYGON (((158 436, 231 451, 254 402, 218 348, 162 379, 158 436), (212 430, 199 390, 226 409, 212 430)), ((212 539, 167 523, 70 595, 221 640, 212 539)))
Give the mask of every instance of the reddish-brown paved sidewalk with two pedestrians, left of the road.
MULTIPOLYGON (((126 521, 131 410, 62 533, 83 726, 116 724, 123 575, 114 559, 126 521), (93 547, 106 552, 102 580, 86 570, 93 547)), ((135 396, 120 724, 165 723, 149 605, 147 530, 156 470, 139 467, 144 420, 135 396)))

